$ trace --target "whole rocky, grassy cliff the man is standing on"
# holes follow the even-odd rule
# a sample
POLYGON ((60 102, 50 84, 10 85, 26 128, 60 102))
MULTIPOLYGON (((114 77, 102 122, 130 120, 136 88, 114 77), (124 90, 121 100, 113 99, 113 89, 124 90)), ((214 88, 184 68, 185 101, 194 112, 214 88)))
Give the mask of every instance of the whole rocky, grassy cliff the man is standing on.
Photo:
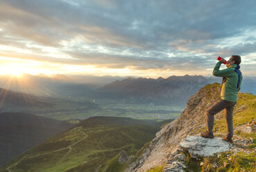
MULTIPOLYGON (((145 144, 139 150, 140 153, 137 153, 135 161, 126 171, 221 171, 228 168, 234 171, 244 168, 255 171, 253 166, 256 164, 256 96, 254 95, 239 94, 239 101, 234 108, 234 144, 223 141, 226 148, 211 155, 193 155, 193 151, 189 151, 190 149, 207 152, 208 150, 203 148, 210 148, 207 144, 208 139, 203 139, 202 142, 198 135, 206 129, 205 110, 220 98, 220 89, 221 86, 214 83, 206 85, 191 96, 187 101, 187 108, 180 117, 162 126, 150 144, 145 144), (189 136, 194 136, 193 138, 198 140, 193 142, 189 136), (192 144, 186 142, 188 140, 192 141, 192 144)), ((219 141, 215 140, 216 143, 221 143, 221 138, 226 132, 225 128, 224 114, 219 112, 215 115, 214 122, 214 137, 219 139, 219 141)))

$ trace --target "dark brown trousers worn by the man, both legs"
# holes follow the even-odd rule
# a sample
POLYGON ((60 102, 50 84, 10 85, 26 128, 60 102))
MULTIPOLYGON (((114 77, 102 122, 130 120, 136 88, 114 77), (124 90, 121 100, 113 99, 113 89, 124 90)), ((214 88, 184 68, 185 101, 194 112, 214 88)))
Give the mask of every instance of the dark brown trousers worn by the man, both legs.
POLYGON ((206 119, 207 119, 207 130, 212 133, 212 128, 214 126, 214 114, 220 112, 221 110, 225 110, 225 121, 227 123, 227 137, 232 138, 233 137, 233 110, 234 110, 234 105, 237 102, 232 102, 232 101, 225 101, 225 100, 220 100, 216 103, 214 103, 211 107, 209 107, 206 111, 206 119))

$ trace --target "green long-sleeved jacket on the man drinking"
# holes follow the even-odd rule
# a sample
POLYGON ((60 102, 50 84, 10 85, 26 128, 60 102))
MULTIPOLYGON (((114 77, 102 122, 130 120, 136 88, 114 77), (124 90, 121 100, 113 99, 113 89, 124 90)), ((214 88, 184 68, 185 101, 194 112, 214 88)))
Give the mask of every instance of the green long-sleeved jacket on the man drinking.
POLYGON ((221 99, 225 101, 237 101, 237 92, 241 88, 243 76, 237 64, 230 65, 227 69, 219 70, 221 62, 217 62, 212 75, 223 77, 221 85, 221 99))

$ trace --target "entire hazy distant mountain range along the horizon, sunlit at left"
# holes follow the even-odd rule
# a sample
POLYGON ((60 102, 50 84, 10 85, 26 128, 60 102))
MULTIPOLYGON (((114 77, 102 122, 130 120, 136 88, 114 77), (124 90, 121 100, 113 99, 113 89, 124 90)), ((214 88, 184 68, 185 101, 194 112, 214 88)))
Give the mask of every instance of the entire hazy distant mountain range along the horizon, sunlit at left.
MULTIPOLYGON (((79 79, 87 80, 83 76, 75 78, 60 74, 51 78, 43 74, 37 76, 24 74, 21 78, 0 76, 0 87, 37 96, 71 98, 78 101, 104 98, 123 103, 184 106, 188 98, 195 94, 200 87, 215 82, 221 83, 222 80, 221 77, 189 75, 157 79, 129 77, 115 80, 101 87, 89 83, 78 83, 79 79)), ((256 94, 256 78, 244 76, 241 91, 256 94)))

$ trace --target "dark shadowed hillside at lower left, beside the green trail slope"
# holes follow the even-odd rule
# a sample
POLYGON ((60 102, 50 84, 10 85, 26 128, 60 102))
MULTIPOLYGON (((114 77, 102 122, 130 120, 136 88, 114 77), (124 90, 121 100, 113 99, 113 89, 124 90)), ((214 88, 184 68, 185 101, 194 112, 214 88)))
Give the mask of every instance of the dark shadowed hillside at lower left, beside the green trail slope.
POLYGON ((0 113, 0 166, 73 124, 24 113, 0 113))

